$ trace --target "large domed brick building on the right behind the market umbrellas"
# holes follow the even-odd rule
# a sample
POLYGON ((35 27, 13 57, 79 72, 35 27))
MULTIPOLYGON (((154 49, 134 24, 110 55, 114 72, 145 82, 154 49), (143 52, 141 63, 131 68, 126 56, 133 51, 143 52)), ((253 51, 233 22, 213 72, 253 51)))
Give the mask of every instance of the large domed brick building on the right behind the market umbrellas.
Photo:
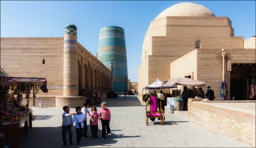
MULTIPOLYGON (((231 20, 215 16, 203 5, 183 2, 162 11, 152 20, 144 37, 138 69, 139 99, 142 94, 153 91, 142 88, 156 78, 166 81, 186 76, 205 82, 204 91, 211 86, 216 99, 220 100, 222 49, 226 52, 228 100, 231 96, 247 99, 248 85, 256 77, 255 36, 246 40, 235 37, 231 20)), ((198 87, 188 88, 194 94, 199 92, 198 87)), ((181 86, 177 89, 178 95, 181 94, 181 86)), ((162 90, 169 93, 168 89, 162 90)))

